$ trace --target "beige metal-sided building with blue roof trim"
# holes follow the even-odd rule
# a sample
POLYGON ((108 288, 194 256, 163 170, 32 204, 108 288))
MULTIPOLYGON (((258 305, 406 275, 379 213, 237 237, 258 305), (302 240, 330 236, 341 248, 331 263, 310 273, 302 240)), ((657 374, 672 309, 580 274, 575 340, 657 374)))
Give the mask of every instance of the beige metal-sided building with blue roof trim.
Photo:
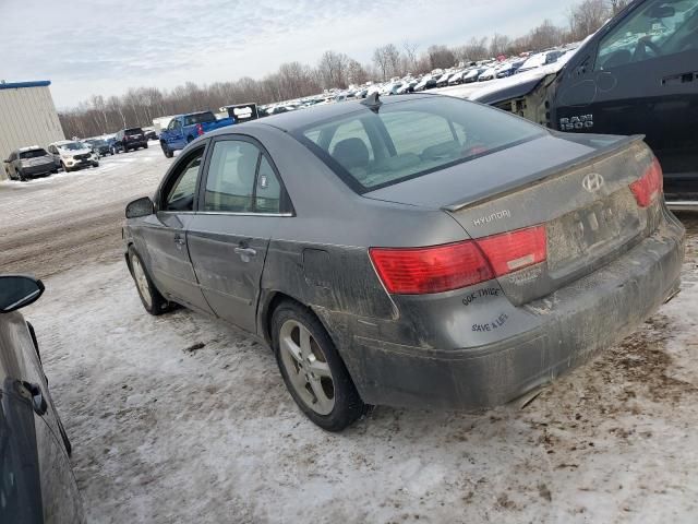
POLYGON ((19 147, 63 140, 48 80, 0 83, 0 179, 5 177, 1 160, 19 147))

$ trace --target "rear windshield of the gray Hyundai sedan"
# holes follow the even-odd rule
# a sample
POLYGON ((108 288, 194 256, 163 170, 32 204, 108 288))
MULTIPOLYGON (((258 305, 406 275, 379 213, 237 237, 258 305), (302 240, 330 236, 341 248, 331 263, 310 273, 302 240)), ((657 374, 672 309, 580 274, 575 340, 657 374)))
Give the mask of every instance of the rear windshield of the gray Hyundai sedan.
POLYGON ((384 105, 293 134, 358 192, 468 162, 541 136, 539 126, 448 97, 384 105))

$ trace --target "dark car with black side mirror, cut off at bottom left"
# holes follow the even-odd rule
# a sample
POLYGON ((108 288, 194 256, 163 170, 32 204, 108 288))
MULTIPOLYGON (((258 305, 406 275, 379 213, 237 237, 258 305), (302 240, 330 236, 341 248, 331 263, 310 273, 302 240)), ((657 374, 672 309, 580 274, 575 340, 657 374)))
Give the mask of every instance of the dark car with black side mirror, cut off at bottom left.
POLYGON ((84 522, 70 441, 49 395, 32 324, 17 309, 44 285, 0 275, 0 522, 84 522))

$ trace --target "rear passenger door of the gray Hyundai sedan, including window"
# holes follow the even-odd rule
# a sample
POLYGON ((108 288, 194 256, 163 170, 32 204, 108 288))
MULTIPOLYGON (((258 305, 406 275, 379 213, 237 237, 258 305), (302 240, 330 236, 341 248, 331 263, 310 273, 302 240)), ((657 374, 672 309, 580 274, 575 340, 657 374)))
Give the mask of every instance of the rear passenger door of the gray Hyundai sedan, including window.
POLYGON ((290 203, 267 154, 246 138, 213 142, 200 190, 200 212, 188 228, 194 271, 221 319, 256 331, 260 282, 269 239, 290 203))

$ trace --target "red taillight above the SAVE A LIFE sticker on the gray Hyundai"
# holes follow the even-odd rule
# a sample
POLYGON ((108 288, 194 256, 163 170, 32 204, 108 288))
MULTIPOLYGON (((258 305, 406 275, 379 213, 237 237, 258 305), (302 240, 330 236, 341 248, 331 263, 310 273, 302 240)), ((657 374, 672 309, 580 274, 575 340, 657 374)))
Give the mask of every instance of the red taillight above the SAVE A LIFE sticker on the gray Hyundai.
POLYGON ((390 294, 420 295, 472 286, 546 257, 545 227, 430 248, 371 248, 371 260, 390 294))

